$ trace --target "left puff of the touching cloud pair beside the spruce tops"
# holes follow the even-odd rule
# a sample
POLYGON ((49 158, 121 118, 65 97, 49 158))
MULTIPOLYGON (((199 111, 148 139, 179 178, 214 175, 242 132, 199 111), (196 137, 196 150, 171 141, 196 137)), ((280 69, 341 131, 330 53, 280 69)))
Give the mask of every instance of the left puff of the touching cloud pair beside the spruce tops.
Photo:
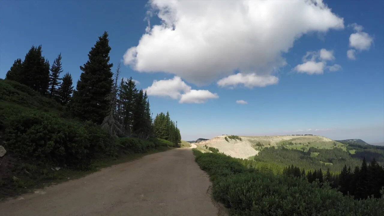
POLYGON ((175 76, 169 80, 154 80, 152 85, 146 91, 152 96, 169 96, 172 99, 179 99, 181 92, 189 92, 191 87, 181 80, 179 76, 175 76))

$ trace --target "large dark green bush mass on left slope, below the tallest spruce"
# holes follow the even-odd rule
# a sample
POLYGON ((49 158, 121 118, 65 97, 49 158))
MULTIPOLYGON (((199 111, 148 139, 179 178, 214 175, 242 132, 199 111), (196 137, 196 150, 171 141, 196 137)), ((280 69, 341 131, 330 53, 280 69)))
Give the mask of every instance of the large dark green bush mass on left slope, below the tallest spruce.
POLYGON ((13 116, 5 130, 6 148, 20 158, 88 169, 96 152, 113 155, 107 134, 91 123, 30 111, 13 116))

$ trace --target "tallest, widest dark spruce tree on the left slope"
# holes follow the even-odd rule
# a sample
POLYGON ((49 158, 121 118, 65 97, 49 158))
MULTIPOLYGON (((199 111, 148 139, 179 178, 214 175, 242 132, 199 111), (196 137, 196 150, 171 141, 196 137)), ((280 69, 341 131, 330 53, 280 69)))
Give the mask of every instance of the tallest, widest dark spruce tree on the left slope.
POLYGON ((101 124, 108 113, 107 96, 112 88, 112 63, 109 63, 108 33, 104 32, 88 54, 88 61, 73 93, 70 110, 74 117, 101 124))

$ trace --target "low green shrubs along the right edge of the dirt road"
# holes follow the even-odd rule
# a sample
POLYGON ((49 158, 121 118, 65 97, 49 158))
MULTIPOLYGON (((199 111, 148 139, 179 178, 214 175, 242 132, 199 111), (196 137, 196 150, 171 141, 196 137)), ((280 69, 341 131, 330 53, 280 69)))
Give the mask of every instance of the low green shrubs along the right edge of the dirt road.
POLYGON ((194 154, 200 168, 210 175, 214 199, 229 208, 231 215, 376 216, 384 211, 384 196, 353 199, 316 181, 274 174, 257 166, 262 162, 198 150, 194 154))

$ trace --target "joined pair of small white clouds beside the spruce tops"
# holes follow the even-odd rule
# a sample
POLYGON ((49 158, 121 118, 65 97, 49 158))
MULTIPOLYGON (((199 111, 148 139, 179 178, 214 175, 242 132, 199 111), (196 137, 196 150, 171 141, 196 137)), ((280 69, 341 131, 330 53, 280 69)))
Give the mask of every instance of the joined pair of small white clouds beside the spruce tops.
POLYGON ((204 103, 208 99, 218 98, 216 93, 208 90, 192 90, 191 86, 182 81, 179 76, 169 80, 154 80, 145 90, 151 96, 179 99, 179 103, 204 103))

